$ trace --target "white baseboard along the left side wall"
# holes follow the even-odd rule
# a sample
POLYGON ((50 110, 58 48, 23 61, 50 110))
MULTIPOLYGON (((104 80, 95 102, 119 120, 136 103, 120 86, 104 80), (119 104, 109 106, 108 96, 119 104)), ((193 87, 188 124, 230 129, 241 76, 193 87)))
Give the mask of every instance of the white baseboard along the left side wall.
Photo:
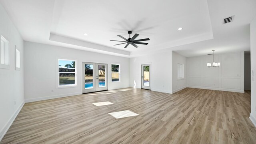
POLYGON ((8 120, 8 122, 4 125, 4 127, 2 128, 2 130, 0 131, 0 142, 2 140, 2 138, 4 138, 4 135, 6 134, 6 132, 9 130, 10 126, 12 125, 12 123, 14 122, 16 116, 18 116, 20 110, 22 109, 22 107, 24 106, 25 102, 23 101, 20 106, 18 107, 18 109, 14 112, 14 114, 12 115, 12 117, 8 120))

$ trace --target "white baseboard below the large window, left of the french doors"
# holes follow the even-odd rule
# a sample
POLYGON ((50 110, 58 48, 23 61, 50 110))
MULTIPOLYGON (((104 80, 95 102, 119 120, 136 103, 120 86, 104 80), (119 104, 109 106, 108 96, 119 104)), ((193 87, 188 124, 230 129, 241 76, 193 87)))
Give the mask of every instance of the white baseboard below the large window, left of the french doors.
POLYGON ((60 94, 60 95, 54 95, 54 96, 45 96, 45 97, 40 97, 40 98, 30 98, 26 99, 25 102, 37 102, 40 100, 50 100, 54 98, 63 98, 63 97, 68 97, 68 96, 76 96, 82 94, 82 92, 74 92, 74 93, 69 93, 69 94, 60 94))

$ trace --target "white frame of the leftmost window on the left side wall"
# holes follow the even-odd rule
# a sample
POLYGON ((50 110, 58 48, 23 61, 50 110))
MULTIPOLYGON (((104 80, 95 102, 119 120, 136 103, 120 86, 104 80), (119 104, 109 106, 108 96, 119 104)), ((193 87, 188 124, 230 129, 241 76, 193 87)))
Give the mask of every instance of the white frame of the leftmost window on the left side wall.
POLYGON ((1 64, 2 52, 4 52, 4 58, 5 58, 6 57, 6 52, 5 52, 6 50, 5 50, 5 46, 2 49, 2 44, 0 44, 0 68, 10 69, 10 42, 8 40, 6 40, 6 38, 4 38, 4 36, 1 35, 1 42, 2 41, 4 41, 4 43, 6 42, 8 44, 8 52, 7 52, 7 54, 8 54, 8 65, 7 64, 1 64))

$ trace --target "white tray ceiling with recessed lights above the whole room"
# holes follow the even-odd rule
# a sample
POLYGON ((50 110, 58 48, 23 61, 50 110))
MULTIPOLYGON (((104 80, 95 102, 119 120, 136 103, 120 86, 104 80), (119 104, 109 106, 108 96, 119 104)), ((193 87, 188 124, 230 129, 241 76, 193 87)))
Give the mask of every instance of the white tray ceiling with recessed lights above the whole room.
POLYGON ((174 50, 184 56, 249 51, 256 0, 0 0, 26 41, 134 57, 174 50), (129 5, 130 4, 130 5, 129 5), (222 19, 235 15, 234 21, 222 19), (179 27, 183 30, 178 31, 179 27), (150 38, 113 46, 128 30, 150 38), (84 36, 86 33, 88 36, 84 36))

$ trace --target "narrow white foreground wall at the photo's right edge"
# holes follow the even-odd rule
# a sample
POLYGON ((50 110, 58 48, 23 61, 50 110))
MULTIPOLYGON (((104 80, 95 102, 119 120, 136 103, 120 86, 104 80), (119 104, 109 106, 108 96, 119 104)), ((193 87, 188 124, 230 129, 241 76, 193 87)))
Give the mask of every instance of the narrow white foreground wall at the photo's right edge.
POLYGON ((250 25, 251 34, 251 113, 250 119, 256 126, 256 17, 250 25), (254 75, 252 76, 252 70, 254 75))

